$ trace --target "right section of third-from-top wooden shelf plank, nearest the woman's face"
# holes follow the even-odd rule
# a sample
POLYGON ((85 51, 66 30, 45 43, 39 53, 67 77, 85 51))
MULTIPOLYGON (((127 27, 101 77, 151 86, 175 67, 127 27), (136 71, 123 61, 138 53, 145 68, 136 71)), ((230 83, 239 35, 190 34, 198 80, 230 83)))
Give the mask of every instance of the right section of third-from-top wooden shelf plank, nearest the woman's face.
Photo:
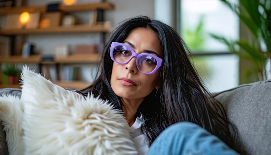
POLYGON ((55 63, 97 63, 100 61, 100 54, 78 54, 68 57, 56 57, 55 63))

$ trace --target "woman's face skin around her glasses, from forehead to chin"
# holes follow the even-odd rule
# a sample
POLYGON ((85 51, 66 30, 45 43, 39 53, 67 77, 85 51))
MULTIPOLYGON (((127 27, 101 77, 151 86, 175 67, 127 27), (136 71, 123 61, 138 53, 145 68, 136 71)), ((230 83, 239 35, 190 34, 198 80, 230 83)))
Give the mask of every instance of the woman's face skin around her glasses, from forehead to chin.
MULTIPOLYGON (((154 51, 159 58, 162 58, 162 50, 158 36, 146 28, 136 28, 132 30, 124 44, 130 46, 136 53, 143 51, 154 51)), ((118 64, 114 61, 111 87, 116 95, 126 99, 140 99, 149 95, 157 86, 161 67, 154 74, 144 74, 136 67, 136 57, 133 57, 127 64, 118 64), (122 80, 127 78, 133 82, 122 80), (132 84, 134 83, 134 84, 132 84)), ((129 81, 128 80, 128 81, 129 81)))

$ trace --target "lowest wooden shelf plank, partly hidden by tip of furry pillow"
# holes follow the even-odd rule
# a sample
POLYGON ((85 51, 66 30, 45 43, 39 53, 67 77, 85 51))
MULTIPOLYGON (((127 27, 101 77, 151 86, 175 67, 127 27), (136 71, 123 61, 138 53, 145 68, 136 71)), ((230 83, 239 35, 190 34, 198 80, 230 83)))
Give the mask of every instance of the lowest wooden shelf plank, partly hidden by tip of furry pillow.
MULTIPOLYGON (((53 84, 56 84, 60 87, 63 88, 68 88, 68 89, 76 89, 80 90, 83 88, 86 88, 90 86, 91 83, 88 82, 83 82, 83 81, 53 81, 53 84)), ((21 89, 21 84, 0 84, 0 88, 19 88, 21 89)))

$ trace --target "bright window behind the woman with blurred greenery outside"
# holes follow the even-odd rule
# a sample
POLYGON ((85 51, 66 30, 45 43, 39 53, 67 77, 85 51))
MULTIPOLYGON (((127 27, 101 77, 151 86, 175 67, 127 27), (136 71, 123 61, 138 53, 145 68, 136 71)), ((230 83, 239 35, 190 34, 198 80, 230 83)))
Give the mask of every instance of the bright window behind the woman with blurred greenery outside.
MULTIPOLYGON (((237 0, 231 0, 236 3, 237 0)), ((239 58, 211 33, 239 39, 239 18, 220 0, 180 0, 179 32, 193 53, 193 63, 210 92, 239 84, 239 58)))

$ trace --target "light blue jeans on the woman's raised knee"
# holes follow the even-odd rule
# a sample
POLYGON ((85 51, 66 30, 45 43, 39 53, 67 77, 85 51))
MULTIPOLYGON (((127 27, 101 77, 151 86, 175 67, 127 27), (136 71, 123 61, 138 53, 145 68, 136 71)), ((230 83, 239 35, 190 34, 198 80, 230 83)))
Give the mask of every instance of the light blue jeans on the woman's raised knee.
POLYGON ((148 155, 238 155, 218 137, 197 124, 180 122, 166 128, 148 155))

